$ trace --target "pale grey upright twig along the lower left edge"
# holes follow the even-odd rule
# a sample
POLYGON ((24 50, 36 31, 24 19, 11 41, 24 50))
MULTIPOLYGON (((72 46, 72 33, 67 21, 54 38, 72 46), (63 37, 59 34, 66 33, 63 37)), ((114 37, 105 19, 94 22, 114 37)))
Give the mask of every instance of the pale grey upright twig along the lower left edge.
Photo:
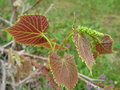
POLYGON ((6 67, 3 62, 3 60, 0 60, 1 62, 1 68, 2 68, 2 84, 1 84, 1 90, 5 90, 6 87, 6 67))

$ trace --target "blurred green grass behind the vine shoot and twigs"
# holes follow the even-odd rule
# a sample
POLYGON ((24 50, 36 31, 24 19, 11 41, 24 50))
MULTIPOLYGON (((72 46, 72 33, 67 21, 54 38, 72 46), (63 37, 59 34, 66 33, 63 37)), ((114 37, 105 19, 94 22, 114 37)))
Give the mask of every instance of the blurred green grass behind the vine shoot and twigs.
MULTIPOLYGON (((35 0, 26 0, 28 5, 32 5, 35 0)), ((43 14, 54 0, 43 0, 40 4, 28 12, 28 14, 43 14)), ((10 20, 12 9, 10 0, 0 0, 0 16, 10 20)), ((19 10, 20 11, 20 10, 19 10)), ((109 55, 101 55, 97 58, 93 66, 93 75, 90 74, 84 62, 80 60, 75 50, 72 39, 70 54, 74 55, 78 67, 78 71, 92 78, 99 78, 101 74, 105 74, 104 84, 108 84, 110 80, 115 87, 120 88, 120 0, 56 0, 54 8, 46 15, 50 28, 47 31, 52 38, 57 39, 61 43, 64 37, 69 33, 73 24, 74 13, 77 18, 76 25, 83 25, 95 29, 102 33, 111 35, 114 40, 113 49, 115 53, 109 55), (55 36, 55 37, 54 37, 55 36)), ((0 21, 0 25, 4 23, 0 21)), ((7 26, 6 26, 7 27, 7 26)), ((0 29, 0 45, 11 40, 11 36, 0 29)), ((37 55, 48 56, 49 50, 41 47, 28 46, 26 52, 37 55)), ((44 84, 47 81, 42 79, 44 84)), ((21 90, 28 90, 23 87, 21 90)), ((42 86, 42 90, 52 90, 42 86)), ((86 84, 78 81, 74 90, 87 90, 86 84)))

